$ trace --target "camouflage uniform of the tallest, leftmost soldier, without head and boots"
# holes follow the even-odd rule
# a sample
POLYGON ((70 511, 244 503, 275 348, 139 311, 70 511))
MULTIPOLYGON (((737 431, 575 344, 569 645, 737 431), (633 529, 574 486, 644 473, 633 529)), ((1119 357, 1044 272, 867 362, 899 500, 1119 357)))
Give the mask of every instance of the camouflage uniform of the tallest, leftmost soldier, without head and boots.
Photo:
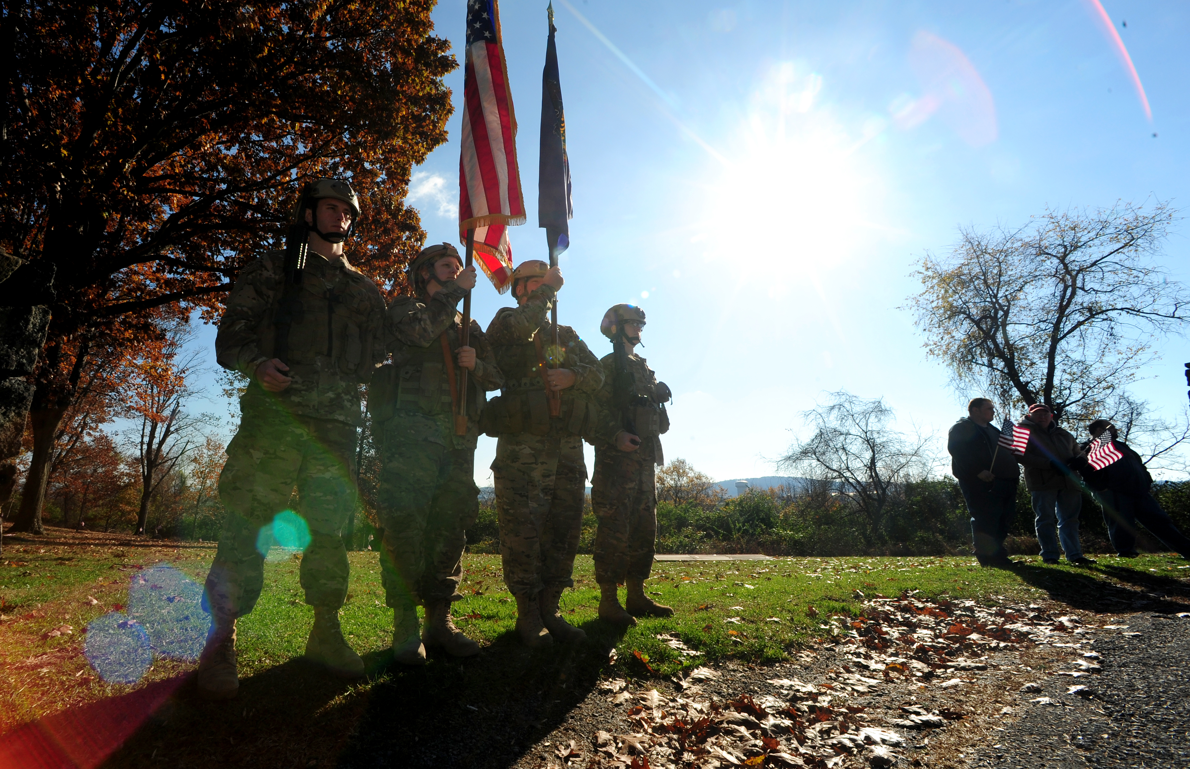
POLYGON ((252 377, 219 476, 227 518, 206 593, 221 617, 243 617, 256 605, 270 542, 261 530, 289 507, 295 488, 295 512, 311 533, 301 561, 306 602, 338 609, 347 592, 340 533, 356 505, 359 384, 384 355, 384 300, 345 257, 311 252, 284 361, 293 382, 269 393, 255 371, 275 357, 283 256, 270 252, 240 270, 215 337, 219 364, 252 377))

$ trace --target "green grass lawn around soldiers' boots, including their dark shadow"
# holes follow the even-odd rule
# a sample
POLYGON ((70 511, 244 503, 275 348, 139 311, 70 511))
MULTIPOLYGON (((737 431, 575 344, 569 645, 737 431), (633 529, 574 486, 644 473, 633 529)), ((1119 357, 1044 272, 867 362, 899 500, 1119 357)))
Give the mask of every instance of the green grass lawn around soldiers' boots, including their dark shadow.
MULTIPOLYGON (((138 696, 154 690, 173 692, 193 664, 157 659, 140 683, 108 684, 82 655, 82 629, 106 612, 124 611, 129 584, 142 568, 170 563, 201 584, 213 555, 209 545, 62 534, 14 546, 6 538, 0 558, 0 733, 35 719, 74 724, 93 719, 96 708, 101 715, 113 706, 133 707, 138 696), (54 634, 63 627, 71 632, 54 634)), ((646 589, 674 606, 675 615, 645 619, 624 632, 596 618, 591 559, 580 556, 575 589, 562 605, 588 640, 527 652, 513 631, 515 604, 503 586, 499 556, 474 555, 464 557, 465 598, 453 611, 484 652, 464 662, 434 654, 427 665, 402 668, 388 651, 392 612, 383 606, 377 554, 349 557, 343 626, 368 664, 367 679, 343 682, 298 659, 312 612, 298 582, 300 561, 274 550, 261 601, 239 624, 239 696, 223 706, 183 692, 163 711, 168 715, 138 726, 109 765, 139 767, 150 759, 178 769, 219 761, 267 767, 281 765, 278 761, 314 765, 309 762, 317 759, 330 765, 351 734, 389 729, 378 725, 396 718, 400 729, 416 736, 416 730, 433 727, 436 708, 457 713, 461 702, 470 708, 468 718, 477 719, 475 733, 511 730, 530 739, 565 719, 601 676, 644 683, 708 662, 778 661, 845 632, 844 620, 863 613, 865 598, 879 595, 917 590, 922 598, 1119 613, 1185 611, 1190 599, 1186 562, 1167 556, 1102 558, 1090 569, 1021 558, 1013 570, 982 569, 957 557, 659 562, 646 589), (671 640, 697 654, 682 655, 671 640), (314 723, 318 729, 309 729, 314 723)))

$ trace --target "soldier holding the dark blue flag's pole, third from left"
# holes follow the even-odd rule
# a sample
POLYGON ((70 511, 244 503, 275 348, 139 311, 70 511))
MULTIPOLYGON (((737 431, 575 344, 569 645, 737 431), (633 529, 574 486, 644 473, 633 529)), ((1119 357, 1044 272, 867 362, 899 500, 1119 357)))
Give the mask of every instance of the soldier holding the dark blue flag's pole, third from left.
POLYGON ((599 419, 591 398, 603 375, 569 326, 558 327, 553 348, 547 313, 562 283, 558 268, 522 263, 513 273, 519 306, 500 310, 488 326, 505 375, 502 394, 484 412, 486 432, 499 438, 491 470, 500 555, 516 599, 516 632, 531 648, 587 637, 562 619, 558 599, 574 586, 587 480, 581 436, 599 419), (551 415, 553 398, 558 415, 551 415))

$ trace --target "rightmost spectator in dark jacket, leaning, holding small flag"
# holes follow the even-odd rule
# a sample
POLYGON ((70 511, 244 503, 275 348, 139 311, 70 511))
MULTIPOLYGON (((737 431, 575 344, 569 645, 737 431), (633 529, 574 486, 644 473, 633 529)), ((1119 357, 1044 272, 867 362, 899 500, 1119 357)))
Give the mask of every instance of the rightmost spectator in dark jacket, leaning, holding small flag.
POLYGON ((1102 470, 1090 467, 1083 470, 1083 479, 1103 507, 1103 523, 1108 525, 1108 537, 1116 552, 1123 558, 1136 556, 1136 521, 1140 521, 1166 548, 1176 550, 1183 558, 1190 558, 1190 538, 1178 531, 1169 514, 1153 499, 1150 493, 1153 476, 1148 474, 1140 456, 1120 440, 1115 425, 1107 419, 1096 419, 1086 425, 1086 431, 1091 433, 1091 438, 1107 432, 1111 445, 1123 455, 1102 470))

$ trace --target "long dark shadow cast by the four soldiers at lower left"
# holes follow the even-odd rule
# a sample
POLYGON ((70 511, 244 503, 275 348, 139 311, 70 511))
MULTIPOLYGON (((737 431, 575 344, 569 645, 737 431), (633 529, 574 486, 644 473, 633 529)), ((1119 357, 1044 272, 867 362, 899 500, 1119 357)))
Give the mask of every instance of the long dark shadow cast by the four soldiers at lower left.
POLYGON ((207 702, 192 674, 67 711, 55 729, 29 725, 21 756, 46 758, 11 764, 0 751, 0 767, 508 767, 587 699, 622 636, 599 620, 583 627, 583 644, 531 652, 509 632, 476 657, 432 654, 416 668, 374 651, 371 686, 292 659, 243 679, 236 699, 207 702), (100 748, 81 761, 45 752, 61 724, 100 748))

